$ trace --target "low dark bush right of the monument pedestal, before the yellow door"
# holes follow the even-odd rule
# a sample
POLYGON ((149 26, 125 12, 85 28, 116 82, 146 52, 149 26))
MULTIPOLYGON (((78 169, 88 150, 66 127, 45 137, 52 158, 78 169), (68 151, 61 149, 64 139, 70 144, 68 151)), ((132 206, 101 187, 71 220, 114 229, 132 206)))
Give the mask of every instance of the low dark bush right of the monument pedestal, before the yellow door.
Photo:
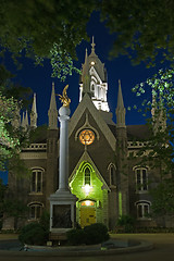
POLYGON ((66 235, 72 245, 95 245, 109 239, 108 228, 102 223, 85 226, 84 229, 71 229, 66 235))

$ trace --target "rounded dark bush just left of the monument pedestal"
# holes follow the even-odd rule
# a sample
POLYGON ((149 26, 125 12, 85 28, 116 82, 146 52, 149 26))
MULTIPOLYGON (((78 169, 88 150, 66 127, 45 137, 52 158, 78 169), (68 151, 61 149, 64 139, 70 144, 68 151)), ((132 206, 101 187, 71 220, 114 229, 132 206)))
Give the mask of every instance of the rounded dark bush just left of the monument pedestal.
POLYGON ((48 232, 39 223, 33 222, 21 229, 18 240, 22 244, 45 245, 48 240, 48 232))

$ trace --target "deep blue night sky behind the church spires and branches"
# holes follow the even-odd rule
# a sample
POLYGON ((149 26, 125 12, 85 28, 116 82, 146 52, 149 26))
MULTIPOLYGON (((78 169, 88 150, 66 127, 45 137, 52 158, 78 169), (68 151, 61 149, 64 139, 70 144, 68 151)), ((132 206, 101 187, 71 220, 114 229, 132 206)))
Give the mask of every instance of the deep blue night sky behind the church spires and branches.
MULTIPOLYGON (((140 105, 140 98, 137 98, 132 92, 132 88, 148 77, 151 77, 160 66, 156 69, 146 69, 145 64, 141 63, 138 66, 133 66, 127 57, 119 57, 113 60, 109 60, 109 51, 112 47, 114 37, 109 34, 109 29, 104 27, 103 23, 99 22, 99 13, 94 13, 88 25, 87 33, 91 39, 95 37, 96 54, 99 57, 102 63, 105 64, 108 72, 108 102, 110 111, 113 113, 113 121, 115 122, 115 108, 117 102, 117 88, 119 79, 121 79, 123 99, 125 108, 133 107, 134 104, 140 105)), ((83 41, 77 47, 78 61, 75 61, 76 67, 80 69, 82 63, 85 60, 85 49, 87 48, 88 54, 90 54, 91 46, 90 42, 83 41)), ((67 95, 72 100, 71 112, 75 111, 78 105, 79 99, 79 75, 67 77, 64 83, 61 83, 58 78, 51 78, 51 65, 49 61, 46 61, 44 66, 35 66, 34 61, 29 59, 21 59, 23 69, 16 71, 12 60, 7 57, 5 65, 12 73, 16 75, 14 82, 21 84, 24 87, 30 87, 36 92, 37 98, 37 112, 38 112, 38 125, 48 123, 48 110, 51 97, 52 82, 55 84, 55 92, 62 94, 62 90, 66 84, 70 85, 67 95)), ((61 102, 58 99, 58 109, 61 107, 61 102)), ((144 116, 136 112, 126 110, 126 124, 144 124, 144 116)))

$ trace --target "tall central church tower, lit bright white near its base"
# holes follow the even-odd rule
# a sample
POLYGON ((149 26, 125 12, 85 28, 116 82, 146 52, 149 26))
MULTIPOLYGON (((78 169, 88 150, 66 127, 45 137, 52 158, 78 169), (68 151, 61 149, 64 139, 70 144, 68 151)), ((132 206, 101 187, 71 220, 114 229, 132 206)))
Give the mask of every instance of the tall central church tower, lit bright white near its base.
POLYGON ((98 110, 109 112, 107 101, 108 83, 104 64, 100 61, 95 52, 95 40, 92 37, 91 53, 85 54, 83 64, 82 82, 79 84, 79 102, 85 94, 89 94, 91 100, 98 110))

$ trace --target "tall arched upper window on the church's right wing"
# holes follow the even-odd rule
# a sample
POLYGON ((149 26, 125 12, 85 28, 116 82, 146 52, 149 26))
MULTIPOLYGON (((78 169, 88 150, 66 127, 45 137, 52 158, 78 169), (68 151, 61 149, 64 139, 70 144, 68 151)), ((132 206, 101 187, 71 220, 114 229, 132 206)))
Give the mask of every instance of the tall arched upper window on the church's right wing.
POLYGON ((147 169, 138 167, 135 170, 136 187, 138 191, 148 190, 148 174, 147 169))

